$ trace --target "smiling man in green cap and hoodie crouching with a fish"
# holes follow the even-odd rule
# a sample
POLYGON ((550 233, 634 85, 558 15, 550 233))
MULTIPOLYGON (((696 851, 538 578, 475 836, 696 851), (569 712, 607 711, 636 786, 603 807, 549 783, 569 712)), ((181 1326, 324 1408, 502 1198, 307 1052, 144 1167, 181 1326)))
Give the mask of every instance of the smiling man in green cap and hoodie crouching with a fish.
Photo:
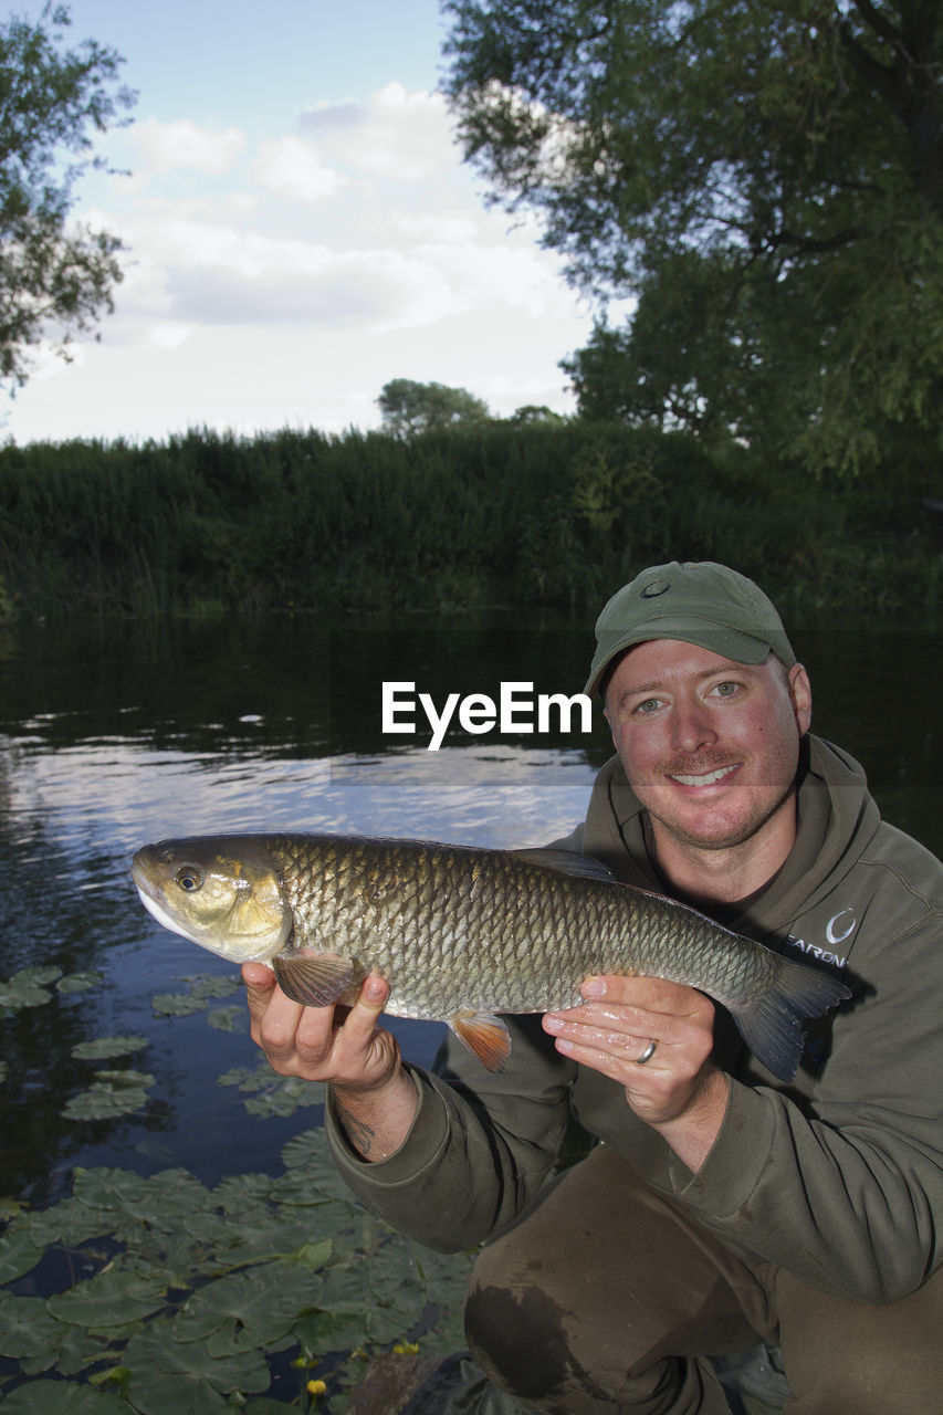
POLYGON ((719 1415, 709 1358, 773 1340, 793 1412, 936 1415, 943 867, 808 733, 808 676, 750 580, 656 566, 596 638, 616 756, 566 845, 844 978, 794 1081, 651 978, 510 1019, 497 1075, 452 1041, 436 1075, 404 1065, 381 979, 337 1026, 248 965, 253 1036, 331 1082, 337 1165, 371 1208, 446 1251, 491 1240, 469 1341, 525 1407, 719 1415), (572 1116, 603 1143, 544 1184, 572 1116))

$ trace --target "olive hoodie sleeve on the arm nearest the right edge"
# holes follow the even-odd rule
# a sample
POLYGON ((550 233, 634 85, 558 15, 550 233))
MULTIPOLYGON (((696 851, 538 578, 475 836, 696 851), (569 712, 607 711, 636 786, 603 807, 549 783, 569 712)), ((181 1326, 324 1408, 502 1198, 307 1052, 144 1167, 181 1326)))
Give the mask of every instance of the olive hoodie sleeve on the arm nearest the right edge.
POLYGON ((675 1159, 667 1180, 718 1237, 864 1302, 943 1262, 943 927, 913 884, 886 883, 896 903, 874 899, 811 1094, 733 1080, 699 1173, 675 1159))

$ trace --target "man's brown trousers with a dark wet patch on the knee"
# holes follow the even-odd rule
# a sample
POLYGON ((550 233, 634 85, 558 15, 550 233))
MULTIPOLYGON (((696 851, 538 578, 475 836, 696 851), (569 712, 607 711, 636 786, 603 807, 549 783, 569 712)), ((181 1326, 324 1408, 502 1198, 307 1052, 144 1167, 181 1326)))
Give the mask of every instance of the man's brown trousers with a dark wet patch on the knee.
POLYGON ((939 1415, 943 1269, 899 1302, 743 1262, 600 1145, 477 1258, 466 1336, 552 1415, 726 1415, 711 1357, 779 1343, 790 1415, 939 1415))

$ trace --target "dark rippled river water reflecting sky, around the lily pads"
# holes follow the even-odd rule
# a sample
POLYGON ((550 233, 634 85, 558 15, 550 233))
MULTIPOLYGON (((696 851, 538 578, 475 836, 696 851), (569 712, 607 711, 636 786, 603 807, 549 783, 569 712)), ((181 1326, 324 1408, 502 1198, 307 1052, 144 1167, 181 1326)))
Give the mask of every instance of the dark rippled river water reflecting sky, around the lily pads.
MULTIPOLYGON (((793 642, 816 730, 867 766, 891 821, 940 853, 939 631, 817 624, 793 642)), ((59 983, 79 975, 81 989, 47 979, 45 1000, 6 993, 0 1007, 0 1199, 57 1199, 76 1165, 184 1166, 212 1183, 278 1165, 317 1114, 269 1088, 283 1114, 251 1115, 246 1094, 221 1084, 256 1067, 242 998, 224 996, 236 971, 144 913, 127 873, 137 846, 251 829, 538 845, 582 818, 610 747, 599 717, 586 732, 554 716, 547 732, 521 730, 537 722, 527 705, 579 692, 590 649, 582 623, 510 614, 72 624, 0 640, 0 982, 42 966, 59 983), (401 685, 396 720, 415 732, 384 723, 384 683, 401 685), (419 693, 439 713, 452 693, 497 703, 503 683, 518 685, 515 730, 471 733, 456 715, 429 750, 419 693), (193 1012, 161 1000, 215 983, 193 1012), (129 1034, 135 1054, 82 1056, 129 1034), (144 1075, 136 1109, 76 1109, 102 1067, 144 1075)), ((392 1026, 411 1058, 432 1058, 439 1024, 392 1026)))

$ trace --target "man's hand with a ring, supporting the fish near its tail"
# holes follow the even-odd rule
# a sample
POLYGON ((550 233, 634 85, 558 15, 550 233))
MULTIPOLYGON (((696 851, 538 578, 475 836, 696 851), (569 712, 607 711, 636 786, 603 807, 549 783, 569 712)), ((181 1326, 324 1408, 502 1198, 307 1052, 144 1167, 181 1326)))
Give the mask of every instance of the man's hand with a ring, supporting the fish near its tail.
POLYGON ((714 1003, 661 978, 588 978, 582 993, 582 1006, 544 1017, 558 1051, 619 1081, 636 1115, 697 1172, 729 1094, 711 1061, 714 1003), (639 1064, 651 1041, 654 1051, 639 1064))

